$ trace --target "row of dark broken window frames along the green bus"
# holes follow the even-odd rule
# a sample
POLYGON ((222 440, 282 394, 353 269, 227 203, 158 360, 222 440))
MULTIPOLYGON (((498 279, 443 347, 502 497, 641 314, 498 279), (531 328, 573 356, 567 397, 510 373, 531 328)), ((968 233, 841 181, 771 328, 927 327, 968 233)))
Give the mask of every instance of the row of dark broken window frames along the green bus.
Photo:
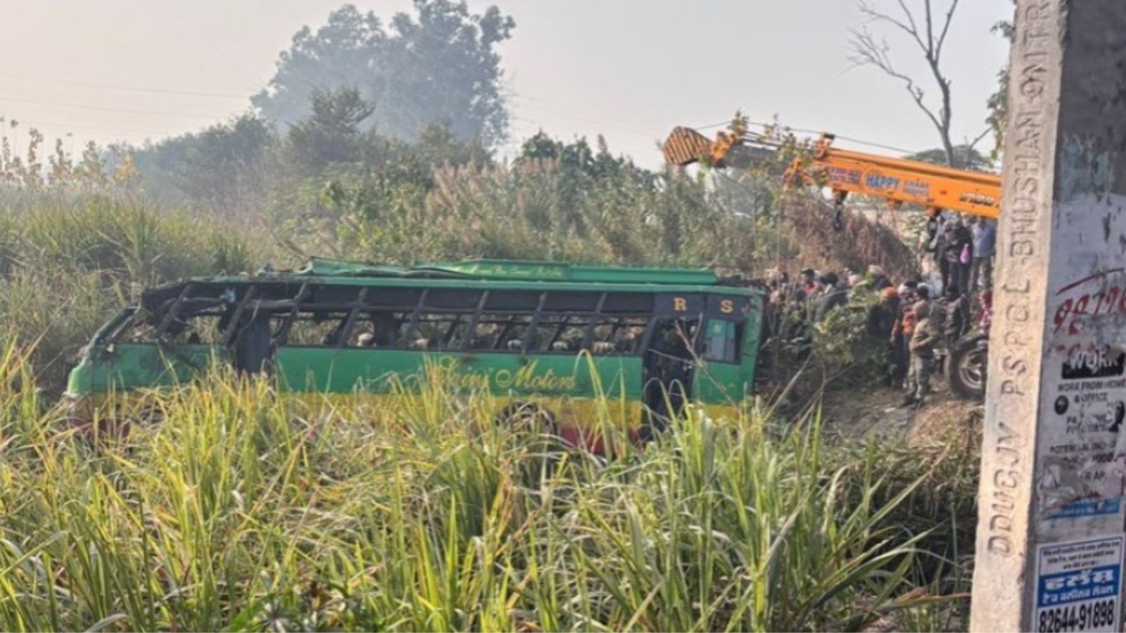
MULTIPOLYGON (((302 280, 300 285, 293 280, 274 282, 256 280, 250 284, 218 283, 208 284, 204 282, 186 282, 179 288, 167 286, 160 288, 164 298, 155 297, 159 301, 157 306, 146 306, 145 302, 134 309, 132 313, 125 313, 122 322, 107 330, 104 335, 106 341, 120 340, 123 335, 133 329, 137 322, 152 324, 153 320, 159 320, 155 326, 155 336, 163 342, 168 342, 167 332, 169 327, 184 314, 191 316, 208 314, 224 319, 220 340, 213 345, 229 347, 238 336, 239 323, 243 316, 251 312, 258 314, 261 311, 269 313, 271 320, 278 320, 275 331, 271 332, 274 347, 288 348, 355 348, 369 350, 411 350, 410 341, 419 336, 419 326, 426 322, 428 315, 449 315, 453 321, 449 328, 443 330, 443 344, 435 349, 418 351, 441 351, 441 353, 465 353, 465 354, 520 354, 520 355, 574 355, 580 350, 590 351, 596 338, 596 328, 610 326, 610 335, 607 340, 614 341, 622 328, 643 327, 644 331, 633 345, 631 351, 614 349, 609 353, 600 353, 599 356, 641 356, 652 342, 653 329, 660 320, 654 296, 650 293, 634 291, 558 291, 558 289, 498 289, 498 288, 450 288, 448 286, 378 286, 378 285, 352 285, 352 284, 325 284, 316 280, 302 280), (241 287, 240 287, 241 286, 241 287), (232 288, 238 296, 236 301, 225 300, 224 293, 232 288), (382 291, 388 291, 397 295, 405 295, 406 301, 382 301, 382 291), (463 306, 432 305, 432 297, 440 294, 439 291, 473 293, 465 297, 463 306), (170 297, 169 293, 173 293, 170 297), (328 294, 331 298, 325 301, 318 295, 328 294), (340 301, 340 295, 347 295, 345 301, 340 301), (522 295, 522 298, 520 297, 522 295), (535 296, 535 305, 530 301, 535 296), (597 300, 595 297, 597 296, 597 300), (595 301, 591 309, 591 301, 595 301), (574 309, 568 309, 573 304, 574 309), (608 310, 613 304, 613 310, 608 310), (511 309, 498 307, 498 305, 512 305, 511 309), (524 307, 526 306, 526 307, 524 307), (548 307, 549 306, 549 307, 548 307), (218 312, 213 312, 218 311, 218 312), (315 312, 341 312, 339 329, 334 332, 333 342, 330 345, 291 345, 288 337, 295 321, 303 315, 315 312), (396 327, 399 331, 394 337, 395 345, 392 347, 359 347, 350 341, 354 338, 358 323, 366 322, 366 316, 376 313, 396 314, 396 327), (406 322, 400 321, 397 315, 410 314, 406 322), (230 316, 225 316, 230 315, 230 316), (501 326, 500 330, 492 335, 493 339, 488 348, 470 347, 476 340, 474 332, 483 323, 495 323, 501 326), (582 342, 578 350, 554 350, 552 345, 560 339, 560 336, 569 327, 580 324, 583 331, 582 342), (503 341, 511 339, 508 336, 513 327, 522 327, 519 335, 520 344, 518 348, 504 347, 503 341), (464 329, 462 336, 456 336, 455 328, 464 329), (545 332, 540 330, 546 329, 545 332), (455 337, 455 345, 448 345, 455 337), (546 338, 544 338, 546 337, 546 338)), ((706 294, 706 293, 704 293, 706 294)), ((455 295, 456 296, 456 295, 455 295)), ((738 321, 738 319, 736 319, 738 321)), ((741 337, 739 337, 741 340, 741 337)), ((736 340, 736 350, 740 340, 736 340)), ((155 341, 153 341, 155 342, 155 341)), ((177 345, 177 344, 173 344, 177 345)), ((738 350, 735 360, 730 363, 739 364, 741 350, 738 350)), ((727 360, 709 359, 712 362, 729 363, 727 360)))

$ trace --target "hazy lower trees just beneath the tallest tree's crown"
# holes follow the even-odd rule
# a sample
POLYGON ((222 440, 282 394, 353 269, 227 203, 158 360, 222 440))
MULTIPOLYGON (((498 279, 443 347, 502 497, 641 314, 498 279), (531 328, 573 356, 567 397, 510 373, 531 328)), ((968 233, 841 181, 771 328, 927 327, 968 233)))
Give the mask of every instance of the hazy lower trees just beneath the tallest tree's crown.
POLYGON ((145 193, 163 204, 247 220, 271 208, 300 216, 318 213, 322 191, 340 204, 333 191, 378 189, 382 203, 393 204, 431 188, 437 166, 490 160, 479 142, 459 140, 444 125, 427 127, 414 143, 364 131, 372 106, 351 88, 316 92, 313 101, 313 113, 284 135, 243 116, 133 150, 145 193))

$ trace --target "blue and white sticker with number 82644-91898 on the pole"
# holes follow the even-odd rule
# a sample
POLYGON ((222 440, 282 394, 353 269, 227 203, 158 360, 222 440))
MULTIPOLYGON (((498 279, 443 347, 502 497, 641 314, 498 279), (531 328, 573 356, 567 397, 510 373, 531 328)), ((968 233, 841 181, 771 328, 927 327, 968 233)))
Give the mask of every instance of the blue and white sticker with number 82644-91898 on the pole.
POLYGON ((1036 549, 1037 631, 1118 631, 1124 536, 1036 549))

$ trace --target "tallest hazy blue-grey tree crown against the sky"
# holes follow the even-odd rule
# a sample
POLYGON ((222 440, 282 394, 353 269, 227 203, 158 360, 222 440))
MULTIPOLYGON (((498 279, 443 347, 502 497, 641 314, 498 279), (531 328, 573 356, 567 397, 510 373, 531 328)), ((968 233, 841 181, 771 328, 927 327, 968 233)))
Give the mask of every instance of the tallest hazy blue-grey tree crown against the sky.
POLYGON ((390 30, 373 14, 345 5, 315 33, 297 32, 266 90, 251 98, 267 118, 293 124, 316 91, 355 87, 375 105, 367 127, 413 141, 434 123, 459 139, 491 145, 503 139, 508 113, 497 46, 512 18, 495 7, 470 14, 464 1, 414 0, 390 30))

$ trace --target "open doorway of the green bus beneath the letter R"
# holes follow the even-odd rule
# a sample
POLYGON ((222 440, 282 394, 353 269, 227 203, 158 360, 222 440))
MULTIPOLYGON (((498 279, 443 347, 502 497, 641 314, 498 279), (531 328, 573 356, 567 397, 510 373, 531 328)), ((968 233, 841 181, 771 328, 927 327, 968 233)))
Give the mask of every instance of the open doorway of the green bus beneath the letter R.
POLYGON ((653 327, 645 348, 643 377, 646 427, 660 430, 692 396, 703 295, 662 293, 654 297, 653 327))

